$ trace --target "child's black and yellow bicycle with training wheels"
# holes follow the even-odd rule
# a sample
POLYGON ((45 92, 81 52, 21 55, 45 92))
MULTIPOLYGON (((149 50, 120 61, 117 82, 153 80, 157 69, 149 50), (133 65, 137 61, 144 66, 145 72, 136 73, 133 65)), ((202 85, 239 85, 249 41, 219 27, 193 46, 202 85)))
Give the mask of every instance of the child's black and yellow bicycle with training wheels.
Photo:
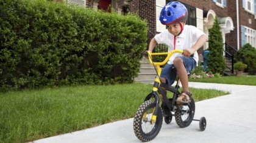
POLYGON ((155 77, 154 87, 152 92, 144 99, 143 104, 138 107, 137 113, 133 119, 133 130, 135 135, 141 141, 151 141, 158 135, 163 118, 166 124, 172 121, 172 116, 175 116, 175 120, 179 127, 188 127, 191 122, 199 121, 200 130, 204 131, 206 128, 206 119, 202 117, 200 120, 193 119, 195 104, 194 99, 191 97, 191 102, 188 104, 177 104, 176 99, 180 95, 179 84, 180 79, 177 77, 177 84, 175 87, 171 87, 160 81, 161 65, 165 65, 173 53, 183 53, 183 50, 172 50, 170 53, 148 53, 149 62, 154 65, 157 71, 155 77), (155 55, 167 55, 163 62, 153 62, 152 56, 155 55), (172 98, 167 98, 167 94, 163 91, 171 91, 173 93, 172 98), (159 94, 159 95, 158 95, 159 94), (162 104, 161 104, 162 103, 162 104), (174 115, 172 115, 174 112, 174 115))

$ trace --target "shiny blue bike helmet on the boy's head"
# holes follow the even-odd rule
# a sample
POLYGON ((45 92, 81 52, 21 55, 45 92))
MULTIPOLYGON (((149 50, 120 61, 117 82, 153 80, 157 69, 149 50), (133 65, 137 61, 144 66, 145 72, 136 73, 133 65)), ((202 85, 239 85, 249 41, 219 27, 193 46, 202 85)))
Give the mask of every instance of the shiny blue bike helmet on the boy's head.
POLYGON ((163 7, 159 20, 163 25, 174 24, 175 22, 187 21, 188 10, 180 2, 172 1, 163 7))

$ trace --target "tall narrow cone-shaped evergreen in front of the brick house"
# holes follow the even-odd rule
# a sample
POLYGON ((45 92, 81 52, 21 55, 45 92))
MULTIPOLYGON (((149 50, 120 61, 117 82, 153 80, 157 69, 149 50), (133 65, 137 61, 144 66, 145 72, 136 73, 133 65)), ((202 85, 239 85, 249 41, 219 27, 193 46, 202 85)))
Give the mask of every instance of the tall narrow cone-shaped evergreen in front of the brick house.
POLYGON ((223 39, 221 35, 221 27, 219 26, 218 18, 215 18, 213 28, 209 30, 209 60, 208 68, 213 73, 223 74, 226 68, 226 63, 223 56, 223 39))

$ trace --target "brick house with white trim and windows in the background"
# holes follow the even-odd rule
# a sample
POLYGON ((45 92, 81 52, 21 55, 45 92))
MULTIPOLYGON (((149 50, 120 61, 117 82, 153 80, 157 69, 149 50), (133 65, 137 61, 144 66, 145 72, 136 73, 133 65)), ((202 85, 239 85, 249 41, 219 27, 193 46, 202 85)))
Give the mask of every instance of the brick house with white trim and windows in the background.
MULTIPOLYGON (((160 10, 171 0, 67 0, 67 3, 79 4, 95 10, 106 10, 109 5, 117 13, 138 13, 141 19, 147 19, 151 39, 165 30, 158 21, 160 10)), ((187 24, 194 25, 208 34, 215 17, 219 18, 224 42, 238 50, 249 43, 256 47, 256 0, 178 0, 188 8, 187 24), (238 7, 238 8, 237 8, 238 7), (238 40, 239 39, 239 40, 238 40)), ((207 44, 199 49, 207 49, 207 44)))

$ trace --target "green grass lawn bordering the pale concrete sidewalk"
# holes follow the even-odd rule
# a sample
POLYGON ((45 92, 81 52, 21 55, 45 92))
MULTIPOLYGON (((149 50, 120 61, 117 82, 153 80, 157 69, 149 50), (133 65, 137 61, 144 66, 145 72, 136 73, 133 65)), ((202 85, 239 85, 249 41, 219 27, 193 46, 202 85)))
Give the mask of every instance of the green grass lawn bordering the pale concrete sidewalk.
MULTIPOLYGON (((256 85, 256 76, 190 79, 256 85)), ((0 142, 29 142, 133 118, 152 85, 84 85, 0 93, 0 142)), ((190 88, 195 101, 228 93, 190 88)))

